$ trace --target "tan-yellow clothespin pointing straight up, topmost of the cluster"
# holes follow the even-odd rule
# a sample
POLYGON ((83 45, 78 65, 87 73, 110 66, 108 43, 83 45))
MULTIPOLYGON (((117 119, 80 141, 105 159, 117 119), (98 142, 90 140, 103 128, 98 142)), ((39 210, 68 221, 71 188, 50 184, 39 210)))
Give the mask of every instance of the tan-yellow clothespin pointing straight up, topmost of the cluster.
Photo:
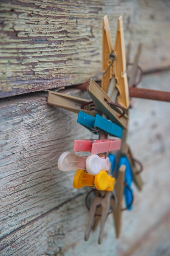
POLYGON ((118 89, 118 103, 124 108, 129 108, 129 88, 126 74, 126 55, 124 46, 124 31, 122 16, 118 19, 116 30, 115 47, 113 50, 109 22, 107 15, 103 18, 103 40, 102 40, 102 90, 106 93, 109 88, 111 78, 114 75, 116 79, 116 88, 118 89))

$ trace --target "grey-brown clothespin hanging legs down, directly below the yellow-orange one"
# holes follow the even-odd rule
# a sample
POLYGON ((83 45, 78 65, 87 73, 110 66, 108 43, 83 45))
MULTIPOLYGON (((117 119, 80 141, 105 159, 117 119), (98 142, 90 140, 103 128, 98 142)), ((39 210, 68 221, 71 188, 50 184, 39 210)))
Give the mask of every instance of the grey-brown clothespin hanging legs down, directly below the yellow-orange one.
POLYGON ((101 217, 100 217, 100 234, 98 237, 98 243, 99 244, 102 243, 105 222, 107 220, 107 216, 108 216, 109 209, 110 209, 110 197, 111 197, 110 192, 105 192, 104 197, 102 197, 101 194, 99 193, 99 191, 96 191, 96 196, 95 196, 95 198, 90 206, 90 210, 89 210, 89 222, 87 224, 86 231, 85 231, 85 241, 87 241, 89 239, 90 231, 94 225, 97 207, 101 206, 102 213, 101 213, 101 217))

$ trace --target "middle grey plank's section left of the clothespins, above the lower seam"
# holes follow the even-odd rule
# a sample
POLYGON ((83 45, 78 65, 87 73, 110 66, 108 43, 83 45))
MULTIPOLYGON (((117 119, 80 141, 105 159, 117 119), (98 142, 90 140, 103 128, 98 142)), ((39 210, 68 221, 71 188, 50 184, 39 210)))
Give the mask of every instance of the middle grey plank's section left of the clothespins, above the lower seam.
POLYGON ((80 193, 74 172, 59 171, 57 160, 90 132, 46 99, 47 93, 1 99, 0 237, 80 193))

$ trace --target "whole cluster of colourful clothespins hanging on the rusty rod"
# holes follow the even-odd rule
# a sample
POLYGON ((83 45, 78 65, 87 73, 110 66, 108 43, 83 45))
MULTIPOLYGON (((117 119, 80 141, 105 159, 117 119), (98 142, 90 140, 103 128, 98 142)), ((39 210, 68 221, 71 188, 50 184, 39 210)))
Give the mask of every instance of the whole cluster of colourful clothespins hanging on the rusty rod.
POLYGON ((77 122, 98 134, 98 139, 81 139, 74 141, 75 152, 90 152, 90 155, 79 156, 76 153, 64 152, 58 160, 61 171, 77 170, 74 175, 73 187, 93 188, 87 194, 86 204, 89 208, 89 222, 85 231, 88 240, 90 231, 100 220, 98 243, 102 243, 105 221, 113 212, 116 237, 120 235, 121 213, 131 209, 133 203, 132 181, 139 190, 142 189, 139 164, 136 164, 126 135, 129 121, 129 86, 136 83, 138 61, 141 46, 135 56, 134 63, 127 76, 122 16, 118 19, 115 47, 107 16, 103 18, 102 37, 102 82, 101 87, 89 79, 87 92, 92 101, 72 97, 59 92, 50 91, 48 103, 78 113, 77 122), (129 81, 128 81, 129 80, 129 81), (129 85, 128 85, 129 83, 129 85), (109 137, 111 137, 112 139, 109 137), (90 193, 95 193, 92 204, 88 206, 90 193), (122 198, 126 207, 122 209, 122 198))

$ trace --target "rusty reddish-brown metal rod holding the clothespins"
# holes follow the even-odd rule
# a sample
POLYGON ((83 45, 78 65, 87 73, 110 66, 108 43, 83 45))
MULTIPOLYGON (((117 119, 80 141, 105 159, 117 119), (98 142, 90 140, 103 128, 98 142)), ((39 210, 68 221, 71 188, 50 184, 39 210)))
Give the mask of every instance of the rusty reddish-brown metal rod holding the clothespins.
MULTIPOLYGON (((97 82, 101 85, 101 81, 97 82)), ((82 91, 87 90, 88 83, 83 83, 74 86, 75 88, 81 89, 82 91)), ((132 98, 142 98, 142 99, 153 99, 157 101, 169 101, 170 102, 170 92, 163 92, 157 90, 141 89, 136 87, 129 87, 129 97, 132 98)))

